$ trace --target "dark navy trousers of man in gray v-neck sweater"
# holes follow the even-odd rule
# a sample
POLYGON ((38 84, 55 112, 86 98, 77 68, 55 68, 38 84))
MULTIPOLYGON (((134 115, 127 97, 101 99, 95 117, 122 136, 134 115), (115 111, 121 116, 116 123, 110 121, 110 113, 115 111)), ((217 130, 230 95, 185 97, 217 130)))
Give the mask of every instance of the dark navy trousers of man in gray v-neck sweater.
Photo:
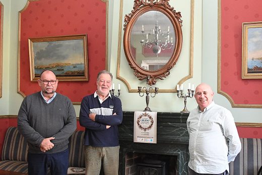
POLYGON ((33 154, 28 152, 27 158, 29 175, 46 175, 48 167, 51 174, 63 175, 68 173, 68 149, 52 154, 33 154))

